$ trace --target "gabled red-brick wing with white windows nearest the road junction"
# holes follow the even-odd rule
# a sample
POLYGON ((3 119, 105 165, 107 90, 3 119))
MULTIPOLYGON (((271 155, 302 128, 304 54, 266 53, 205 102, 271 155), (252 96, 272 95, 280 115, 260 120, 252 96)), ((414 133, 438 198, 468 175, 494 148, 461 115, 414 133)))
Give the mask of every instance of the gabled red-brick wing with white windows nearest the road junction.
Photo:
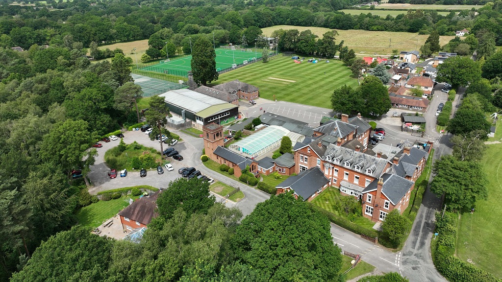
POLYGON ((403 213, 410 204, 415 183, 398 175, 385 173, 362 191, 362 215, 367 219, 384 221, 387 214, 398 209, 403 213))

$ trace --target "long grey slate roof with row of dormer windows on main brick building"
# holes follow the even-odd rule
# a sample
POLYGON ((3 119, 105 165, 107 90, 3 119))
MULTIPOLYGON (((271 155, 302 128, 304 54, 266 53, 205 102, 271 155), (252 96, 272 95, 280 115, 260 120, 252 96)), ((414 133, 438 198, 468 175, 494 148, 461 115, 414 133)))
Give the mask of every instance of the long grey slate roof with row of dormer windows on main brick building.
POLYGON ((360 172, 362 174, 376 178, 380 177, 382 173, 384 173, 386 166, 390 164, 387 159, 374 157, 362 152, 356 152, 348 148, 330 144, 325 150, 323 160, 335 164, 335 158, 340 161, 340 163, 337 164, 339 166, 344 167, 344 163, 349 161, 349 169, 355 170, 355 165, 358 165, 361 168, 360 172), (366 173, 367 169, 371 170, 370 174, 366 173))

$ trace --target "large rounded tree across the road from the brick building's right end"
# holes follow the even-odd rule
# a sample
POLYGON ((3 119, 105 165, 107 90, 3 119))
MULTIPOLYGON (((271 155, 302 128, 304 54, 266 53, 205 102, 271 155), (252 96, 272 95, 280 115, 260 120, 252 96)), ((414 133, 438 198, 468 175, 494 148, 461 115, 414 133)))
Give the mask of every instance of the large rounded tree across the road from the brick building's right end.
POLYGON ((448 210, 467 211, 476 200, 486 200, 486 175, 478 162, 459 161, 453 156, 443 156, 433 169, 436 175, 431 183, 432 193, 445 195, 448 210))

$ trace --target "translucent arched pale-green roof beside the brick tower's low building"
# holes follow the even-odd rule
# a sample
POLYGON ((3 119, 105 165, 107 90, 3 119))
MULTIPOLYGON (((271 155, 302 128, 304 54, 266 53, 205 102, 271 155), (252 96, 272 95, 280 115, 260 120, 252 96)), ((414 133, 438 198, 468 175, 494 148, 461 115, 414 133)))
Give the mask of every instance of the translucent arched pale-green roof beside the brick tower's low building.
POLYGON ((281 145, 282 137, 290 131, 284 127, 270 125, 266 128, 230 145, 230 148, 257 158, 281 145))

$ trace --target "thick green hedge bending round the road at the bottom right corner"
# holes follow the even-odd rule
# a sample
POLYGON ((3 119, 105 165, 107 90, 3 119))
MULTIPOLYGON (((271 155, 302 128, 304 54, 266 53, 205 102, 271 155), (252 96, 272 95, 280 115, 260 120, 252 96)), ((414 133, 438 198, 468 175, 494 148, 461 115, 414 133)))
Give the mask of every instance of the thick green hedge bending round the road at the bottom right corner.
POLYGON ((452 282, 500 282, 492 274, 453 256, 455 253, 456 226, 458 214, 436 213, 436 232, 439 233, 432 260, 436 269, 452 282))

